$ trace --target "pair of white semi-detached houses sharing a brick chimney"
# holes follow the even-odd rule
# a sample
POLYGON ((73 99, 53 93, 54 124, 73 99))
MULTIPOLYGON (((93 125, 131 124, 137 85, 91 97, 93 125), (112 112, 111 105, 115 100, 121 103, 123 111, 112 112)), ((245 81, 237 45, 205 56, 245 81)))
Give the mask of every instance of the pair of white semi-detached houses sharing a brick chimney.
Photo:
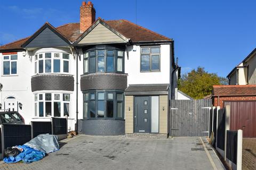
POLYGON ((46 22, 0 47, 2 109, 26 123, 67 115, 69 130, 83 134, 167 135, 180 70, 173 39, 95 13, 83 2, 79 23, 46 22))

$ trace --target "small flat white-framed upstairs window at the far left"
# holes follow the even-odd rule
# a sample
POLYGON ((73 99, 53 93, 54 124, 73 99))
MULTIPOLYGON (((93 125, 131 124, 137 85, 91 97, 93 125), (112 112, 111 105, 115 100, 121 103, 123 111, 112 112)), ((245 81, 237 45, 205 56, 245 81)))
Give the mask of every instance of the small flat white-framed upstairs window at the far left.
POLYGON ((18 55, 3 57, 3 75, 17 75, 18 55))

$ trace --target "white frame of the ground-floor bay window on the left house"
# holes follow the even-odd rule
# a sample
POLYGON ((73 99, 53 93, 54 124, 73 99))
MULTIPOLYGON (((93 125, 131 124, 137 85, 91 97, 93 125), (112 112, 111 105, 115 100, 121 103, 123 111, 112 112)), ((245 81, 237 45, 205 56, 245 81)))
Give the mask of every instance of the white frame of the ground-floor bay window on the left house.
POLYGON ((36 108, 37 111, 36 111, 36 115, 35 115, 35 113, 33 114, 33 117, 36 117, 36 118, 54 117, 54 102, 60 102, 60 117, 65 117, 64 116, 64 103, 68 103, 69 104, 69 116, 68 117, 71 117, 71 94, 69 92, 38 92, 34 95, 37 95, 37 101, 34 100, 35 104, 37 104, 37 108, 36 108), (39 95, 41 95, 41 94, 43 95, 43 100, 39 100, 39 95), (51 100, 45 100, 45 94, 52 94, 51 100), (55 94, 60 95, 59 100, 55 100, 55 98, 54 98, 55 94), (63 101, 63 94, 70 95, 69 101, 63 101), (44 108, 43 116, 39 116, 39 102, 43 102, 43 108, 44 108), (45 115, 45 102, 51 102, 51 108, 52 108, 51 116, 45 115))

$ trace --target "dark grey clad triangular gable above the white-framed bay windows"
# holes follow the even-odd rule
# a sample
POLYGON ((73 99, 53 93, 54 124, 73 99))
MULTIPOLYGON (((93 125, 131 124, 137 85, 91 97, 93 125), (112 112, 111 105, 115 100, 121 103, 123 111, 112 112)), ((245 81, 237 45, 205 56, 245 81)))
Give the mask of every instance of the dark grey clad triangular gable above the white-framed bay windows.
POLYGON ((69 46, 63 39, 57 36, 49 28, 45 28, 37 37, 35 37, 26 48, 31 47, 60 47, 69 46))

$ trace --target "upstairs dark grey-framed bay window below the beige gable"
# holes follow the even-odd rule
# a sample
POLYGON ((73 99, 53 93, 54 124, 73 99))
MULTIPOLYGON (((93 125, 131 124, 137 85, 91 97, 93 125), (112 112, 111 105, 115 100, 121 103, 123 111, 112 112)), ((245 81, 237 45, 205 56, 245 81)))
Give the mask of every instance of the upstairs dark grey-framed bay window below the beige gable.
POLYGON ((84 74, 95 72, 124 72, 124 50, 93 49, 84 53, 84 74))

